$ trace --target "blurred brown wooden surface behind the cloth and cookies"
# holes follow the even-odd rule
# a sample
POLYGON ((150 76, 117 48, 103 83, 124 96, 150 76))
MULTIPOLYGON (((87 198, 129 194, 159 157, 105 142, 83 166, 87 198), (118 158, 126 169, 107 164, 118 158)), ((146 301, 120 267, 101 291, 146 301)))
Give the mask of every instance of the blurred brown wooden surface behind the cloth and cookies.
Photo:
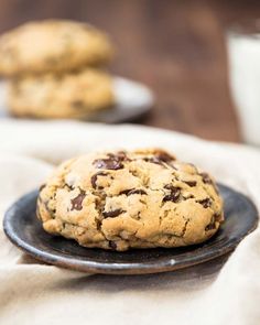
POLYGON ((112 72, 148 84, 156 106, 143 122, 239 141, 228 90, 225 28, 256 18, 260 1, 0 0, 0 31, 26 20, 88 21, 111 34, 112 72))

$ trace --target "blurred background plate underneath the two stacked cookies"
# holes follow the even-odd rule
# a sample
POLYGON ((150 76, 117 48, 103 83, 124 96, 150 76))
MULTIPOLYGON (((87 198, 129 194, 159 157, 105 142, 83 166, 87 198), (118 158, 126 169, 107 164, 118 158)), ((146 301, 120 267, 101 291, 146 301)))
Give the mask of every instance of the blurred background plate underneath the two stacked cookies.
MULTIPOLYGON (((143 118, 154 105, 153 94, 145 85, 127 78, 113 77, 113 93, 116 104, 112 107, 87 115, 80 120, 102 123, 131 122, 143 118)), ((0 118, 12 118, 8 112, 6 95, 7 83, 0 82, 0 118)))

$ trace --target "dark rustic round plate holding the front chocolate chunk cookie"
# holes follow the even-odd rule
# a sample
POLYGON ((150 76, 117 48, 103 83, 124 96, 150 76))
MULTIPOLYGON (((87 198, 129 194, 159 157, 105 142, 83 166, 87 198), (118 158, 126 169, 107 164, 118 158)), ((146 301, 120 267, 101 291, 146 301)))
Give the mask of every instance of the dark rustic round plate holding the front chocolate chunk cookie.
POLYGON ((80 247, 74 240, 46 234, 35 217, 37 191, 14 203, 6 213, 8 238, 35 259, 66 269, 110 274, 141 274, 174 271, 203 263, 232 251, 258 224, 258 212, 242 194, 218 185, 225 202, 225 223, 203 245, 175 249, 144 249, 127 252, 80 247))

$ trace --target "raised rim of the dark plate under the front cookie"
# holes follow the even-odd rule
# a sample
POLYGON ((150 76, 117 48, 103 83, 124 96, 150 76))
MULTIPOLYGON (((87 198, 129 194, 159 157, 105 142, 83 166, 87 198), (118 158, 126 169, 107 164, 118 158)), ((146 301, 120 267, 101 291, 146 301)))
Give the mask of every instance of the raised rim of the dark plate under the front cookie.
MULTIPOLYGON (((248 204, 251 205, 252 210, 254 210, 254 219, 252 221, 252 225, 242 236, 239 238, 234 238, 231 242, 223 247, 215 246, 214 251, 208 251, 208 253, 203 250, 203 256, 199 256, 199 253, 189 257, 188 261, 182 261, 175 263, 174 257, 171 260, 170 258, 165 258, 165 261, 159 261, 153 260, 151 262, 147 261, 142 264, 140 262, 123 262, 123 263, 106 263, 106 262, 97 262, 97 261, 89 261, 89 260, 79 260, 77 257, 64 257, 58 253, 52 253, 47 252, 45 250, 41 250, 39 247, 32 246, 31 243, 28 243, 23 239, 21 239, 15 230, 12 227, 12 216, 17 213, 18 207, 24 202, 24 199, 28 199, 29 197, 35 196, 39 189, 31 191, 30 193, 21 196, 19 199, 17 199, 4 213, 3 216, 3 231, 8 239, 20 250, 23 252, 30 254, 31 257, 35 258, 36 260, 43 261, 47 264, 53 264, 56 267, 61 267, 68 270, 79 271, 84 273, 102 273, 102 274, 152 274, 152 273, 161 273, 161 272, 169 272, 169 271, 175 271, 181 270, 184 268, 188 268, 196 264, 205 263, 209 260, 214 260, 217 258, 220 258, 236 249, 238 243, 250 232, 252 232, 259 223, 259 214, 258 209, 254 205, 254 203, 245 194, 227 186, 218 183, 218 186, 221 186, 228 191, 235 192, 236 194, 239 194, 243 199, 247 201, 248 204), (221 250, 219 250, 221 248, 221 250)), ((44 230, 43 230, 44 231, 44 230)), ((214 237, 217 236, 214 235, 214 237)), ((86 249, 95 249, 95 248, 86 248, 86 249)), ((165 248, 166 249, 166 248, 165 248)), ((97 250, 98 251, 98 250, 97 250)), ((181 254, 180 254, 181 256, 181 254)))

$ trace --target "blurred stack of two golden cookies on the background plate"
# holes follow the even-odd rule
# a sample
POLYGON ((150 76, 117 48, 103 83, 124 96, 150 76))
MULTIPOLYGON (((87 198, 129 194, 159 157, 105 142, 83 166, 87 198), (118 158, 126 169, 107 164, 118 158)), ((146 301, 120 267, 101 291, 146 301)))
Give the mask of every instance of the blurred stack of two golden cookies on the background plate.
POLYGON ((8 106, 20 117, 80 118, 113 104, 108 37, 85 23, 30 22, 0 37, 8 106))

